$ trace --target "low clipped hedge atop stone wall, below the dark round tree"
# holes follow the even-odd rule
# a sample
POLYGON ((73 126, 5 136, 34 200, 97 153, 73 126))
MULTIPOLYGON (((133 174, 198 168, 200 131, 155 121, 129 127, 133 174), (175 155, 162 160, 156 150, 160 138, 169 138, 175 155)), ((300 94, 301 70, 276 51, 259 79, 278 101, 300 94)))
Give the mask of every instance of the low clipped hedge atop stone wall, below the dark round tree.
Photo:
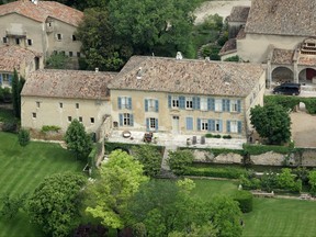
POLYGON ((289 154, 291 151, 290 147, 286 146, 273 146, 273 145, 250 145, 244 144, 242 148, 245 153, 249 155, 261 155, 269 151, 274 151, 278 154, 289 154))

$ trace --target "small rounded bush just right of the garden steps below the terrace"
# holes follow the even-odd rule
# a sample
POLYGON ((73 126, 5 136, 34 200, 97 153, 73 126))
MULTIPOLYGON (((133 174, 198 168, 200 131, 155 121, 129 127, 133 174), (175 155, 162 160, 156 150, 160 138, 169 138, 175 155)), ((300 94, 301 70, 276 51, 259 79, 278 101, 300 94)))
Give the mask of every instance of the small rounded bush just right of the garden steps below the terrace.
POLYGON ((174 174, 181 176, 185 173, 193 159, 194 156, 190 150, 169 151, 168 165, 174 174))

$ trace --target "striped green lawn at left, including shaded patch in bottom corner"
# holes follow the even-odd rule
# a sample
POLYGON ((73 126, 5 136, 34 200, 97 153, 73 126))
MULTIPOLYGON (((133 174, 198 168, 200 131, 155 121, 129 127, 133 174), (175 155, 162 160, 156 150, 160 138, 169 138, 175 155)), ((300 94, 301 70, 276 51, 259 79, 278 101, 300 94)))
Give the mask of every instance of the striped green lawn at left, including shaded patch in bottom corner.
MULTIPOLYGON (((32 193, 40 182, 56 172, 81 172, 84 163, 58 144, 30 143, 21 147, 18 136, 0 132, 0 195, 32 193)), ((25 213, 11 221, 0 219, 0 236, 43 236, 25 213)))

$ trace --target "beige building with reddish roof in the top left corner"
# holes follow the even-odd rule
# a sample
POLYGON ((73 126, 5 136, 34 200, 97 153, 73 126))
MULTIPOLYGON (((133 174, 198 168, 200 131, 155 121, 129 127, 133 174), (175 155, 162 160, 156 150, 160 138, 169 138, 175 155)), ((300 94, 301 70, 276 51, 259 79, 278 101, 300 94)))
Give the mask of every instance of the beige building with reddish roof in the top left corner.
POLYGON ((19 0, 0 5, 0 46, 19 45, 43 55, 63 53, 76 60, 75 32, 83 13, 54 1, 19 0))

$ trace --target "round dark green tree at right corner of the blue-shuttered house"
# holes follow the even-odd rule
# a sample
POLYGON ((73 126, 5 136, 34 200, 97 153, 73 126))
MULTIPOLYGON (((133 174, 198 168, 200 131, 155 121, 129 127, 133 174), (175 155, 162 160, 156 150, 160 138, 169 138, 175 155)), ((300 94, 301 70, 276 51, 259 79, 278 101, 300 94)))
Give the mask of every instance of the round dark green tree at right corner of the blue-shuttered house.
POLYGON ((291 119, 281 105, 256 105, 250 110, 250 121, 262 138, 269 144, 280 145, 291 137, 291 119))

